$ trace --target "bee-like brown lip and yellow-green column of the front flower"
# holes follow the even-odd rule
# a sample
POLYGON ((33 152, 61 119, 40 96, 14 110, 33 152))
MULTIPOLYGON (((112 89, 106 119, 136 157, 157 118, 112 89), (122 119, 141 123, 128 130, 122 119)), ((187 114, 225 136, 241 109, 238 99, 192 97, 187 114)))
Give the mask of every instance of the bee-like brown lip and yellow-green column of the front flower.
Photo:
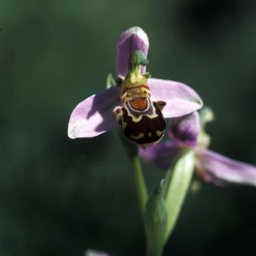
POLYGON ((166 120, 161 113, 161 106, 165 104, 150 100, 150 75, 142 73, 142 66, 147 64, 142 51, 131 55, 128 73, 121 84, 120 100, 123 105, 113 109, 125 136, 143 148, 160 141, 166 130, 166 120))

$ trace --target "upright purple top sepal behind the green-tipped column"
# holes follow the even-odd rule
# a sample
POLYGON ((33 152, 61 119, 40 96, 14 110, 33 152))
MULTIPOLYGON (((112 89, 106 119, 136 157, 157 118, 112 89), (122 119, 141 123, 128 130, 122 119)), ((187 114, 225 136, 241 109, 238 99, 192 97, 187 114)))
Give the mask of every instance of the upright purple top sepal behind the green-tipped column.
MULTIPOLYGON (((125 78, 128 73, 128 64, 131 55, 136 50, 141 50, 147 57, 148 55, 148 36, 139 26, 133 26, 123 32, 116 44, 116 73, 117 78, 125 78)), ((142 67, 142 73, 145 73, 146 67, 142 67)))

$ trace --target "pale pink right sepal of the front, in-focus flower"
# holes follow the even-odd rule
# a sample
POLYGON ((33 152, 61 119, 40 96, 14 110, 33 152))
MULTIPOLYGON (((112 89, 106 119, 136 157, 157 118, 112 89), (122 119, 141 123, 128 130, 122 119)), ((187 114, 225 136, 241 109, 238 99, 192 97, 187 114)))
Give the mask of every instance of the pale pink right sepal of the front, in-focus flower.
POLYGON ((166 118, 179 117, 202 107, 203 102, 188 85, 171 80, 148 79, 152 101, 166 102, 162 113, 166 118))

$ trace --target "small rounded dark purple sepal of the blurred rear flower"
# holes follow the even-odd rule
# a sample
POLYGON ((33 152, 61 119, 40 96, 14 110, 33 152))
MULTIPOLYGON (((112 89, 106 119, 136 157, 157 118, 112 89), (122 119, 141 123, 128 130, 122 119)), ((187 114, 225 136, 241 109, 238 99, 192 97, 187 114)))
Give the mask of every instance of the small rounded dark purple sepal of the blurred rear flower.
POLYGON ((201 130, 199 113, 196 111, 185 116, 170 119, 169 135, 177 143, 194 147, 201 130))

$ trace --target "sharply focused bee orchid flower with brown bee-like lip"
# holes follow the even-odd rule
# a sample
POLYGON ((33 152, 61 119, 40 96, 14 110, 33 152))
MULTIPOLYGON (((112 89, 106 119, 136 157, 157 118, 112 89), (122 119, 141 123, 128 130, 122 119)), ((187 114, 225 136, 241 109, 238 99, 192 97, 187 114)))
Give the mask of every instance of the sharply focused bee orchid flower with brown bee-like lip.
POLYGON ((121 126, 125 136, 143 148, 163 137, 166 119, 202 107, 188 85, 151 79, 146 73, 148 36, 138 26, 123 32, 117 42, 116 85, 80 102, 70 116, 68 137, 96 137, 121 126))

